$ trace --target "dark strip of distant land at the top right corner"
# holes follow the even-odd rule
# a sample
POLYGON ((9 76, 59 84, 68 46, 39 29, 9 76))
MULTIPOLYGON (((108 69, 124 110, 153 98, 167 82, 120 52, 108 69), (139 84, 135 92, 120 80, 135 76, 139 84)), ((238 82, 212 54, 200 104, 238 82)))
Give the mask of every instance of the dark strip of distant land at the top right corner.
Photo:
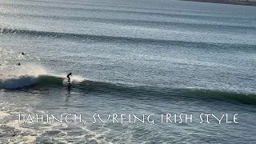
POLYGON ((232 5, 245 5, 245 6, 256 6, 256 0, 182 0, 191 2, 211 2, 211 3, 223 3, 232 5))

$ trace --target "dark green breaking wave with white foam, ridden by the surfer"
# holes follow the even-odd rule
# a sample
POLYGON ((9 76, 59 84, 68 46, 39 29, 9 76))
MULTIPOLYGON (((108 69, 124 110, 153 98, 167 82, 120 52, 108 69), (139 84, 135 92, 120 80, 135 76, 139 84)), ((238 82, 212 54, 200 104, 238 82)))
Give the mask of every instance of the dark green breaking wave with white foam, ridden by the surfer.
MULTIPOLYGON (((22 75, 17 78, 0 79, 0 89, 18 89, 33 86, 51 87, 66 86, 67 78, 64 75, 22 75)), ((155 98, 155 99, 172 99, 182 101, 188 99, 197 99, 202 101, 221 100, 241 102, 245 104, 256 105, 256 94, 241 94, 221 90, 202 90, 202 89, 178 89, 174 87, 158 86, 127 86, 123 84, 110 82, 96 82, 85 80, 81 77, 72 77, 73 90, 83 93, 114 94, 123 97, 136 98, 155 98)))

